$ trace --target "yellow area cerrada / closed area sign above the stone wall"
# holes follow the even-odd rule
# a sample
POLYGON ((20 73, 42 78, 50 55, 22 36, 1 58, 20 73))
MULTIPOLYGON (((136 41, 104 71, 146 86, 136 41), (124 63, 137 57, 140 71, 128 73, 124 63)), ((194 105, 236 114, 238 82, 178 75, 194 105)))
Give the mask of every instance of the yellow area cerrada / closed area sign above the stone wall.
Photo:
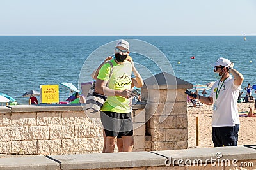
POLYGON ((40 85, 41 103, 59 103, 59 85, 40 85))

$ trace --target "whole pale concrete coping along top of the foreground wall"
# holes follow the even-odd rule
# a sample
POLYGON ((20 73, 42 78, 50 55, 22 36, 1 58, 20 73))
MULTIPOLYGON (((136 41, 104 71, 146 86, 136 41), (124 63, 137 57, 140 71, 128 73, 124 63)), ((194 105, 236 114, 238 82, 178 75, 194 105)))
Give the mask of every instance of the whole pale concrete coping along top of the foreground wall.
MULTIPOLYGON (((94 153, 84 155, 51 155, 47 156, 30 156, 30 157, 12 157, 1 158, 1 169, 15 169, 22 167, 24 169, 33 169, 31 167, 36 164, 41 167, 56 166, 60 164, 61 169, 106 169, 106 168, 122 168, 122 167, 148 167, 148 166, 165 166, 165 160, 168 157, 173 159, 194 159, 202 160, 216 159, 216 153, 221 153, 221 159, 229 159, 230 162, 236 159, 239 162, 245 160, 256 160, 256 146, 236 146, 236 147, 220 147, 220 148, 193 148, 186 150, 163 150, 154 152, 120 152, 120 153, 94 153), (51 159, 51 160, 50 160, 51 159), (52 163, 56 160, 56 164, 52 163)), ((221 160, 220 159, 220 160, 221 160)), ((209 160, 208 160, 209 163, 209 160)), ((177 164, 177 162, 176 162, 177 164)), ((183 162, 184 164, 184 162, 183 162)), ((36 170, 40 169, 40 167, 36 170)), ((51 168, 50 168, 51 169, 51 168)), ((57 168, 55 168, 57 169, 57 168)))

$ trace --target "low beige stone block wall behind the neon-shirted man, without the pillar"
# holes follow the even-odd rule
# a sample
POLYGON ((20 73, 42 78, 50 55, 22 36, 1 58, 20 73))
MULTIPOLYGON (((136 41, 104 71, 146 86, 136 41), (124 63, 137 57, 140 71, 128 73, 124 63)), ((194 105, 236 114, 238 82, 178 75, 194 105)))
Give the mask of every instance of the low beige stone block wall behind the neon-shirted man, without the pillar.
MULTIPOLYGON (((145 150, 145 110, 134 107, 132 115, 134 151, 145 150)), ((81 106, 0 108, 2 154, 100 153, 102 147, 102 128, 86 116, 81 106)))

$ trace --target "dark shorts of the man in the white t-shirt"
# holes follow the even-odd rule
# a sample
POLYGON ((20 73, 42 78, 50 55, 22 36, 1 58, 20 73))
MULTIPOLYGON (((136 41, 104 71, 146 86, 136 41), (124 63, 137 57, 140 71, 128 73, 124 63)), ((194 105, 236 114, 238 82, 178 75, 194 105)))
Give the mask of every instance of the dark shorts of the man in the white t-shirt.
POLYGON ((239 124, 231 127, 212 127, 214 147, 237 146, 239 124))

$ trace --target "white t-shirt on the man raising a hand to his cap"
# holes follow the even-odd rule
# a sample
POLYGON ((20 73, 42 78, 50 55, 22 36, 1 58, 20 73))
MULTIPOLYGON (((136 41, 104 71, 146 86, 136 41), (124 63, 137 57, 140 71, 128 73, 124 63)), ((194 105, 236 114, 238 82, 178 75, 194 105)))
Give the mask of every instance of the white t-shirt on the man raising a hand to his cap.
POLYGON ((214 83, 211 94, 209 95, 213 98, 213 103, 217 106, 217 109, 213 111, 212 115, 212 127, 240 124, 237 110, 239 90, 241 90, 241 85, 238 87, 234 85, 234 78, 232 76, 229 76, 224 82, 218 80, 214 83), (218 97, 216 101, 217 92, 218 97))

